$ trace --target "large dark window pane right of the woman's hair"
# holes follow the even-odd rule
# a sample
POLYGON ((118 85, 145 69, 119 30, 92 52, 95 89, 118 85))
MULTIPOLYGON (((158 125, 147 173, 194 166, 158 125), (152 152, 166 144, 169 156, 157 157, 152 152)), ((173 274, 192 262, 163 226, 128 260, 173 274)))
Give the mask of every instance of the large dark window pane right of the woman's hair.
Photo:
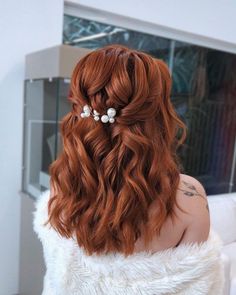
POLYGON ((235 191, 236 56, 176 42, 173 102, 188 127, 182 150, 186 173, 208 194, 235 191))

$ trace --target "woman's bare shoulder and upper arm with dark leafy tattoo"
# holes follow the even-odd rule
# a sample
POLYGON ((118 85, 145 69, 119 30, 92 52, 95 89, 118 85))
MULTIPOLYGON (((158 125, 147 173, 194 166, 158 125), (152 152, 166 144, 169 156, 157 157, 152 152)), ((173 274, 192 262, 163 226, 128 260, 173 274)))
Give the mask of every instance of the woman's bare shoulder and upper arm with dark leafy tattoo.
POLYGON ((210 230, 210 215, 206 191, 196 178, 180 174, 177 190, 178 215, 185 223, 185 231, 180 243, 203 242, 210 230))

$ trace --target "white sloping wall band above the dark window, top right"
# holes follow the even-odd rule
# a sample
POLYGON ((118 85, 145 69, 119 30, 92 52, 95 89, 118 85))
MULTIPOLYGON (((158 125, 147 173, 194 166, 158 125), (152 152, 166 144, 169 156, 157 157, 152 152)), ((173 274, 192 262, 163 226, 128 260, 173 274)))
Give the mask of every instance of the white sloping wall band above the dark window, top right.
MULTIPOLYGON (((140 20, 138 30, 225 51, 236 52, 236 1, 234 0, 66 0, 89 9, 99 9, 120 18, 130 27, 140 20), (153 25, 153 26, 152 26, 153 25)), ((89 14, 84 10, 84 15, 89 14)), ((109 17, 95 13, 106 22, 109 17)), ((86 17, 86 15, 85 15, 86 17)), ((113 21, 114 21, 113 17, 113 21)), ((113 22, 117 24, 116 20, 113 22)))

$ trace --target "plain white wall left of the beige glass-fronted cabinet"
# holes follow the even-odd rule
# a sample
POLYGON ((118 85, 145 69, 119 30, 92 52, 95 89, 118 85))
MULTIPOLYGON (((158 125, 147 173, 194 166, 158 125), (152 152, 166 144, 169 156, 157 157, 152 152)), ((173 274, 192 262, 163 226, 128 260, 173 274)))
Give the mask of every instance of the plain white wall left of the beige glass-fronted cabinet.
POLYGON ((0 295, 18 292, 25 54, 62 42, 63 0, 0 0, 0 295))

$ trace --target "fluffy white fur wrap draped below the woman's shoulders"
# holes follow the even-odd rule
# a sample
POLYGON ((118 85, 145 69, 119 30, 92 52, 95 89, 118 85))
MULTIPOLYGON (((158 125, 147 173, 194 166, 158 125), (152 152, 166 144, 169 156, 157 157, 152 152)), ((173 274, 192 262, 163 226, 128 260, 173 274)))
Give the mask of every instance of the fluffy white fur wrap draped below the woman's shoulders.
POLYGON ((204 243, 156 253, 87 256, 74 239, 42 226, 49 195, 49 191, 41 194, 33 213, 47 268, 42 295, 223 294, 222 244, 214 231, 204 243))

